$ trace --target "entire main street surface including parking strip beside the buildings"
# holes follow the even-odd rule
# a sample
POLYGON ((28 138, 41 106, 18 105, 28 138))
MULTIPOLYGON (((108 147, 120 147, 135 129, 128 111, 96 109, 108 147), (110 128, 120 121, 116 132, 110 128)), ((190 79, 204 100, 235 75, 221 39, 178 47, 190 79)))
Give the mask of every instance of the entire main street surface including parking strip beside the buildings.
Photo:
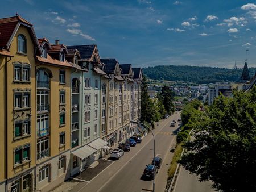
MULTIPOLYGON (((163 164, 156 174, 155 191, 164 191, 167 180, 167 170, 170 166, 172 153, 170 147, 174 147, 176 137, 172 131, 177 128, 170 127, 173 119, 177 120, 180 114, 175 112, 168 119, 159 122, 159 126, 153 130, 155 134, 155 154, 163 159, 163 164)), ((151 189, 153 180, 142 180, 142 173, 147 164, 151 164, 153 159, 153 140, 149 132, 142 140, 141 144, 131 147, 130 152, 119 160, 114 161, 92 181, 81 182, 73 187, 72 191, 142 191, 142 189, 151 189)))

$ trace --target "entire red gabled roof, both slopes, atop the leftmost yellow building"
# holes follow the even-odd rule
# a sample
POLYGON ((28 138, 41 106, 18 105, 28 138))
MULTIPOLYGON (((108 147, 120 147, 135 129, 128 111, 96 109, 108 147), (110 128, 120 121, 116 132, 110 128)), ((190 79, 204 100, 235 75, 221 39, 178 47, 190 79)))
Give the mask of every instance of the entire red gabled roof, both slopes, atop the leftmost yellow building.
MULTIPOLYGON (((36 39, 34 28, 32 24, 21 16, 16 15, 9 18, 0 19, 0 48, 9 49, 11 41, 13 40, 16 31, 18 30, 20 24, 29 28, 30 35, 32 36, 32 41, 39 47, 38 40, 36 39)), ((41 49, 39 49, 41 53, 41 49)))

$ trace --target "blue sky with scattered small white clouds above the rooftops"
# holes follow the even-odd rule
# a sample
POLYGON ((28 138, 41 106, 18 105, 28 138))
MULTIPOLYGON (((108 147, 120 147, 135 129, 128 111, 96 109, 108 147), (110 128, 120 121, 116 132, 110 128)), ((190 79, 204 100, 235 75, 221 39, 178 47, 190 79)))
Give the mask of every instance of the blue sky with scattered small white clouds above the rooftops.
POLYGON ((238 0, 75 0, 1 2, 38 38, 65 45, 97 44, 101 58, 134 67, 256 67, 256 3, 238 0), (246 51, 249 50, 249 51, 246 51))

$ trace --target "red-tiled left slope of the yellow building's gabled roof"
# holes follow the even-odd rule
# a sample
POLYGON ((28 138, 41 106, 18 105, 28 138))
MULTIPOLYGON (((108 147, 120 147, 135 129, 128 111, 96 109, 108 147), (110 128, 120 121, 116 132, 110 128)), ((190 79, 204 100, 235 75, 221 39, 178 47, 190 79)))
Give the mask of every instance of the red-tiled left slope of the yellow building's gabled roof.
POLYGON ((0 19, 0 47, 5 47, 7 45, 8 41, 11 38, 11 35, 13 35, 13 32, 18 22, 23 22, 32 26, 30 22, 23 19, 19 15, 10 18, 0 19))

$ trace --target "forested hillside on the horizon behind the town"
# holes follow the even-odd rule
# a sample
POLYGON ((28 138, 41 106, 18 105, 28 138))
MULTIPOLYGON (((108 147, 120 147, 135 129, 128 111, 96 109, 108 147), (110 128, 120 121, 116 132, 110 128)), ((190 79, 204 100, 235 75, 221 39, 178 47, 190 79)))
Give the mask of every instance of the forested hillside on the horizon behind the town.
MULTIPOLYGON (((143 73, 153 80, 189 81, 208 84, 220 81, 240 81, 243 69, 212 68, 201 66, 159 65, 143 68, 143 73)), ((256 68, 249 68, 250 77, 256 68)))

